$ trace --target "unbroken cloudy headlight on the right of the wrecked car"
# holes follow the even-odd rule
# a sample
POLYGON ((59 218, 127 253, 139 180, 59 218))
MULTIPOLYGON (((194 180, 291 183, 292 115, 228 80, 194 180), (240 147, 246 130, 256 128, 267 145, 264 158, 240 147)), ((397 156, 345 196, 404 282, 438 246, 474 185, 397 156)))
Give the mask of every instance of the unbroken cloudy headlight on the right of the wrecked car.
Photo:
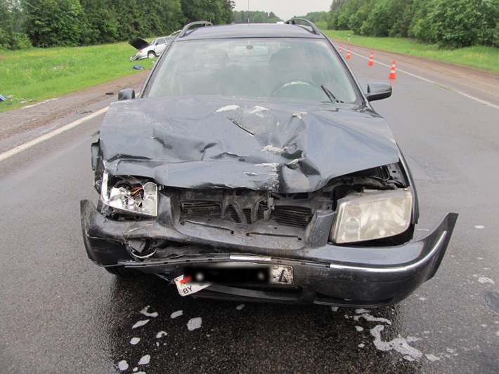
POLYGON ((347 196, 338 201, 330 239, 351 243, 386 238, 410 225, 413 194, 406 189, 347 196))

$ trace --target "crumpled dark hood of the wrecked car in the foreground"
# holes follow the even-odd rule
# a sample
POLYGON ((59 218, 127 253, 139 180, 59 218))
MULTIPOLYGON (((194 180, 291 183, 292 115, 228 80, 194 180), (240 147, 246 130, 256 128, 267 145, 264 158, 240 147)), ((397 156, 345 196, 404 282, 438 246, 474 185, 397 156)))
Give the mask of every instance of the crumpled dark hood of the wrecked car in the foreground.
POLYGON ((115 102, 101 128, 105 168, 172 187, 295 193, 398 162, 380 115, 324 108, 211 98, 115 102))

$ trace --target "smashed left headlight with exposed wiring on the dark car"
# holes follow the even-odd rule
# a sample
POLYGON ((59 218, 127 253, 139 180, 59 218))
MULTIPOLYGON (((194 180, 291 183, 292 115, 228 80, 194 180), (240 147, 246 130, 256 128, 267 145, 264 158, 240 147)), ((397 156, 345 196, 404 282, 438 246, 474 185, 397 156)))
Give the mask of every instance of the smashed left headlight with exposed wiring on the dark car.
POLYGON ((157 216, 157 185, 143 182, 138 178, 117 178, 112 186, 110 178, 104 171, 102 178, 101 200, 105 205, 122 213, 157 216))

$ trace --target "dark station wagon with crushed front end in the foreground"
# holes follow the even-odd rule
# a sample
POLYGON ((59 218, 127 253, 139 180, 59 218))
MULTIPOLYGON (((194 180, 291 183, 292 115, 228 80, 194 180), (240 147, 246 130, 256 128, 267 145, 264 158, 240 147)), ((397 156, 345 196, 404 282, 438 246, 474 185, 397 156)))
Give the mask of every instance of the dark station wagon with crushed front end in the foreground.
POLYGON ((315 25, 193 22, 91 147, 86 252, 179 294, 380 307, 439 268, 458 217, 415 239, 417 195, 387 122, 315 25))

